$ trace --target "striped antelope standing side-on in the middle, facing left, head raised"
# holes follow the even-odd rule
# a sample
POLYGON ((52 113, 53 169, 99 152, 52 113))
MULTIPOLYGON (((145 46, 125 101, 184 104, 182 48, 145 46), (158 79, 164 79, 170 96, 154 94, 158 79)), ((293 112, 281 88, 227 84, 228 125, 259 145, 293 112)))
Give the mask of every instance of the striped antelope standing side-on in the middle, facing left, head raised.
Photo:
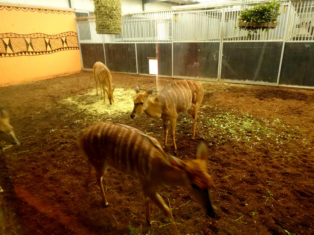
POLYGON ((192 139, 195 138, 195 127, 198 108, 203 100, 203 86, 196 81, 180 80, 165 86, 152 100, 149 98, 154 87, 147 92, 141 93, 138 86, 135 87, 136 97, 131 118, 136 118, 145 112, 150 118, 161 118, 164 123, 165 144, 167 147, 167 136, 170 121, 170 133, 176 154, 175 129, 176 119, 179 112, 188 112, 192 116, 192 139))

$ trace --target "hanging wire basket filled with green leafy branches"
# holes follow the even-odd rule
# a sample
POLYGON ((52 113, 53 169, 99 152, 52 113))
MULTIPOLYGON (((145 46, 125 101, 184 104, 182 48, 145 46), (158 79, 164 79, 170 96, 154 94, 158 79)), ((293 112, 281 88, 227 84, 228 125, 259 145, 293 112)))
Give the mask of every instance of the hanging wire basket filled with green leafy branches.
POLYGON ((245 4, 241 7, 238 27, 250 32, 257 32, 257 29, 274 29, 279 24, 277 21, 280 15, 280 1, 255 1, 243 0, 245 4), (249 1, 249 2, 247 2, 249 1), (255 4, 254 4, 255 3, 255 4))

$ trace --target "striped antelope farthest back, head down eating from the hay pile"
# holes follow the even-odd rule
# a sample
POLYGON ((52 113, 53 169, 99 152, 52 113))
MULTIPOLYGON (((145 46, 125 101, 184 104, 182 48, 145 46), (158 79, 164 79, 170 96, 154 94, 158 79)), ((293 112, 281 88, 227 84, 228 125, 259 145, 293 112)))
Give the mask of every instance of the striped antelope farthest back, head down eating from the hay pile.
POLYGON ((112 86, 112 76, 110 70, 101 62, 96 62, 93 66, 93 75, 96 82, 96 94, 98 95, 98 83, 100 86, 100 94, 104 93, 104 102, 105 102, 105 91, 108 95, 108 100, 110 105, 113 102, 113 91, 114 87, 112 86), (102 89, 102 91, 101 91, 102 89))

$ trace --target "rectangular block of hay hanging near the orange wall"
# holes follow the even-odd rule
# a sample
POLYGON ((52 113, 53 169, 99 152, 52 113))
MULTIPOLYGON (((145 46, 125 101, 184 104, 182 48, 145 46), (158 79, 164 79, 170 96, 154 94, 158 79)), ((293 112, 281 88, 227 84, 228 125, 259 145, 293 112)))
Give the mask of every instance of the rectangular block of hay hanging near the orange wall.
POLYGON ((121 34, 121 0, 93 0, 97 34, 121 34))

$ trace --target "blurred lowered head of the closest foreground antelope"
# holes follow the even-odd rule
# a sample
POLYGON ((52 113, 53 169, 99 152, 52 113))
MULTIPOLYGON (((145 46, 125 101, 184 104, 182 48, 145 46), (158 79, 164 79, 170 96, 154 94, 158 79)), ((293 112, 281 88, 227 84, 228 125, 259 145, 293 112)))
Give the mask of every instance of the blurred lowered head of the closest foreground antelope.
MULTIPOLYGON (((177 158, 174 158, 177 159, 177 158)), ((204 141, 201 141, 197 149, 197 159, 187 160, 186 162, 180 159, 171 162, 175 167, 185 171, 186 179, 184 185, 187 187, 191 195, 200 205, 203 211, 209 217, 214 217, 217 211, 216 206, 210 199, 209 189, 213 187, 212 177, 207 171, 207 146, 204 141)))

